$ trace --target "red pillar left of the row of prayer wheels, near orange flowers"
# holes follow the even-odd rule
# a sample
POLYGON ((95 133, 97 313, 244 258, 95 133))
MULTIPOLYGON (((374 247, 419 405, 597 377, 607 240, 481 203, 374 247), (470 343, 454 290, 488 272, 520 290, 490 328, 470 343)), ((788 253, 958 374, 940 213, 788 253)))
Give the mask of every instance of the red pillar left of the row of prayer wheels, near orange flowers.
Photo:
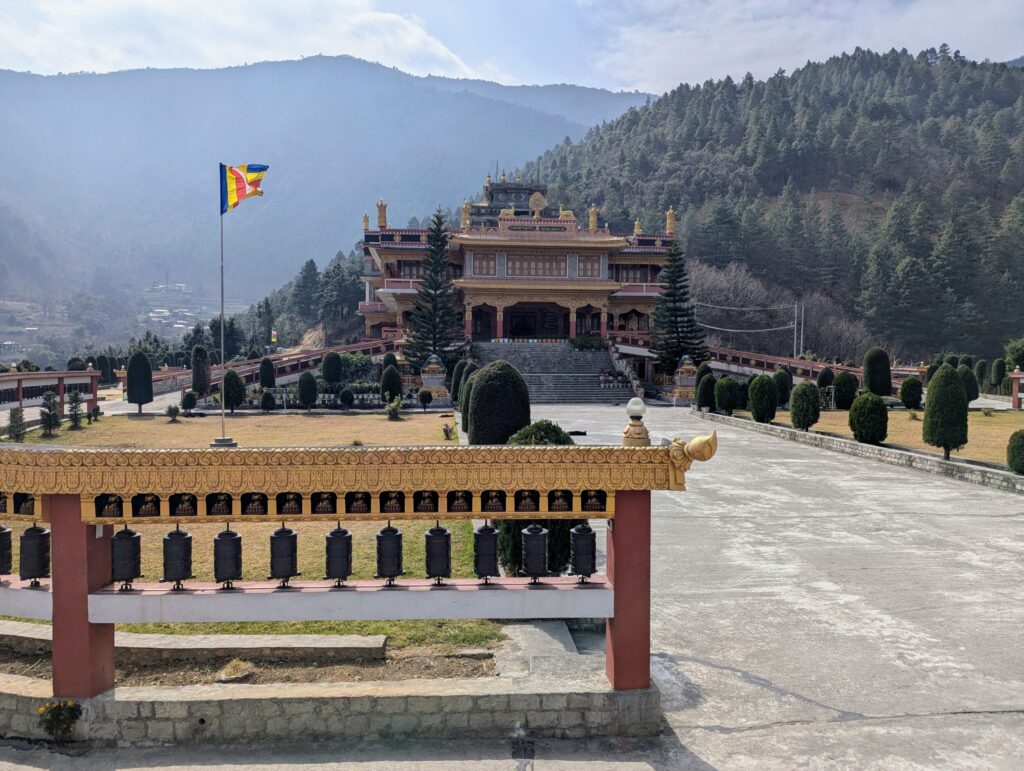
POLYGON ((111 581, 111 536, 82 522, 78 496, 50 496, 49 511, 53 695, 95 696, 114 687, 114 625, 89 624, 89 592, 111 581))

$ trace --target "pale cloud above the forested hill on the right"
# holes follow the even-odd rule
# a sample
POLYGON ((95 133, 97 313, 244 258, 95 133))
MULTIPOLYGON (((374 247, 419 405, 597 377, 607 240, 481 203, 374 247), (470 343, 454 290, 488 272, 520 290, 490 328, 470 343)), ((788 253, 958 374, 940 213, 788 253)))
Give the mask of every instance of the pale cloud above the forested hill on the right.
POLYGON ((610 33, 594 68, 662 93, 681 82, 771 75, 855 47, 916 51, 948 42, 966 56, 1024 53, 1020 0, 580 0, 610 33))

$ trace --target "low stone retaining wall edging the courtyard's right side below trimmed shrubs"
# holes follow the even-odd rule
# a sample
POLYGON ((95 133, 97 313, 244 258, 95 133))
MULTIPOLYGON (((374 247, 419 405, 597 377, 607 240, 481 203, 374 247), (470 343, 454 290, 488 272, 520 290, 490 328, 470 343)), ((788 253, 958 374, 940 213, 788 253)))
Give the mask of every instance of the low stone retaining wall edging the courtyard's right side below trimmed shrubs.
POLYGON ((799 441, 803 444, 811 444, 823 449, 831 449, 837 453, 858 456, 860 458, 870 458, 874 461, 882 461, 894 466, 905 466, 927 471, 930 474, 949 476, 964 482, 973 482, 987 487, 1006 490, 1008 492, 1024 492, 1024 476, 1019 476, 1010 471, 999 471, 988 469, 983 466, 975 466, 969 463, 958 463, 956 461, 944 461, 930 455, 911 453, 906 449, 896 449, 894 447, 880 447, 874 444, 862 444, 855 439, 845 439, 839 436, 817 433, 815 431, 798 431, 786 426, 775 426, 769 423, 756 423, 752 420, 733 418, 727 415, 716 413, 703 413, 697 410, 692 411, 692 415, 702 420, 714 423, 725 423, 736 428, 743 428, 748 431, 756 431, 769 436, 776 436, 780 439, 799 441))

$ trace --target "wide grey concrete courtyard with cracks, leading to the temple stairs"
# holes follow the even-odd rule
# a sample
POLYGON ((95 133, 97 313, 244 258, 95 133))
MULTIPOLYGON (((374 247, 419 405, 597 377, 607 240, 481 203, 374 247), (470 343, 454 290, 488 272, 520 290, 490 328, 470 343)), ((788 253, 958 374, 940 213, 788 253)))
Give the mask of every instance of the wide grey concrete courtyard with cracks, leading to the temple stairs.
MULTIPOLYGON (((539 406, 581 443, 623 408, 539 406)), ((0 747, 27 768, 1021 768, 1024 500, 650 409, 654 441, 718 429, 653 495, 660 737, 600 742, 0 747)), ((301 737, 296 737, 301 741, 301 737)), ((4 764, 8 765, 4 765, 4 764)))

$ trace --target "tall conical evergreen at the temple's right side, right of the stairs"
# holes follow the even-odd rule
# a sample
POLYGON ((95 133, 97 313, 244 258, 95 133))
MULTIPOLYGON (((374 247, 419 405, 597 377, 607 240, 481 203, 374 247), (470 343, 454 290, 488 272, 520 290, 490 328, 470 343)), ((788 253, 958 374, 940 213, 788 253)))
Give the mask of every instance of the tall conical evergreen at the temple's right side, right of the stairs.
POLYGON ((658 281, 663 289, 654 299, 652 352, 667 372, 675 372, 683 356, 700 363, 708 358, 708 348, 690 301, 690 280, 683 253, 675 241, 669 245, 658 281))

